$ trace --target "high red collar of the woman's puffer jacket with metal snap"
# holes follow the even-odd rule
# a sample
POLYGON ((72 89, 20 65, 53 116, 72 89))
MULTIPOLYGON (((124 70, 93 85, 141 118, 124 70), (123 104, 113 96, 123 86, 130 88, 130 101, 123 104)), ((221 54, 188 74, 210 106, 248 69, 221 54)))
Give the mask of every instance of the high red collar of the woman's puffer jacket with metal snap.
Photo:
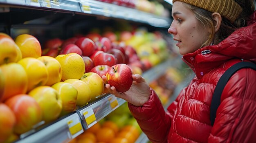
POLYGON ((195 72, 198 79, 229 59, 239 58, 256 62, 256 11, 252 20, 229 35, 218 45, 200 48, 183 56, 184 62, 195 72))

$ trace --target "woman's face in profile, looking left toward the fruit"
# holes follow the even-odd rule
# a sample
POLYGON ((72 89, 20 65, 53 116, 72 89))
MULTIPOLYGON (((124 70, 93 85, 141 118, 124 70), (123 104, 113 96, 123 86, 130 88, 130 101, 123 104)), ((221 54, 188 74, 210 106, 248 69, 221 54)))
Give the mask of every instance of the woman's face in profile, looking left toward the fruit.
POLYGON ((185 55, 198 50, 207 40, 209 30, 198 26, 194 13, 180 1, 173 3, 172 16, 173 22, 168 32, 173 34, 173 39, 177 41, 180 54, 185 55))

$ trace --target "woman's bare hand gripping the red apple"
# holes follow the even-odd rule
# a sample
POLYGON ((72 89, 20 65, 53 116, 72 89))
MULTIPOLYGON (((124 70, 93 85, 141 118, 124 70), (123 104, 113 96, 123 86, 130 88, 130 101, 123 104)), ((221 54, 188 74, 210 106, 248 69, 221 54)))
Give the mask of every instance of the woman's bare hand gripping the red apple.
POLYGON ((103 82, 106 84, 106 88, 108 89, 110 94, 122 98, 135 106, 142 106, 149 99, 150 87, 148 86, 146 80, 139 74, 132 75, 132 86, 128 91, 124 93, 117 92, 114 86, 110 87, 110 85, 107 84, 107 77, 105 75, 102 76, 102 79, 103 82))

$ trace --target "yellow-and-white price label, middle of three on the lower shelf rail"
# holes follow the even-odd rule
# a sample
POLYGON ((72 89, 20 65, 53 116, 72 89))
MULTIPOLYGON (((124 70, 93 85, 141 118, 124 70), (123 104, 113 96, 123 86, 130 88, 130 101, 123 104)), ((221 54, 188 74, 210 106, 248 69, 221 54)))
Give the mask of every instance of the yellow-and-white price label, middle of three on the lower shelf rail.
POLYGON ((88 128, 92 127, 95 123, 97 123, 95 114, 91 107, 86 108, 85 110, 82 111, 82 113, 83 113, 83 116, 85 117, 85 122, 88 128))

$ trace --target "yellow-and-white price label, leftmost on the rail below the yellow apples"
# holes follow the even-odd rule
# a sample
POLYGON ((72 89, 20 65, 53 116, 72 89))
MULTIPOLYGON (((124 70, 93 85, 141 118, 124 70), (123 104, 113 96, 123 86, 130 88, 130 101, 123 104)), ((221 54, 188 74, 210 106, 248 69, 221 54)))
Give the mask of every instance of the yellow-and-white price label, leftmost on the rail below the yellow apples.
POLYGON ((74 139, 76 136, 81 134, 83 132, 83 127, 80 122, 80 118, 78 114, 76 114, 77 117, 73 117, 71 119, 67 120, 67 125, 71 134, 72 139, 74 139))

